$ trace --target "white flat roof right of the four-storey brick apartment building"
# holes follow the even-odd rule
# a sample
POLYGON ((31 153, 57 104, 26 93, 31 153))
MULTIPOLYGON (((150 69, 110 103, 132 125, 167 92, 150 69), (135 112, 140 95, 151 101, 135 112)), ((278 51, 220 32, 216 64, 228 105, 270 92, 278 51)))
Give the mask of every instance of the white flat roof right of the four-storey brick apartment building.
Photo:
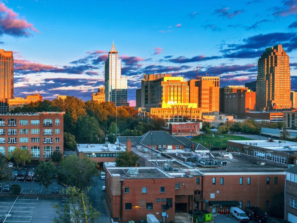
POLYGON ((111 143, 104 144, 76 144, 78 152, 98 153, 98 152, 124 152, 126 147, 111 143))

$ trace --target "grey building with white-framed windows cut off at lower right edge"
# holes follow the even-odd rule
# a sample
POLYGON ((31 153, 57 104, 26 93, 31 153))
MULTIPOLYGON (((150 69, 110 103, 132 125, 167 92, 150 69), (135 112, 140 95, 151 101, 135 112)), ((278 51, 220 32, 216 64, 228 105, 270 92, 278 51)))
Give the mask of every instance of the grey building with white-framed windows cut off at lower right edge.
POLYGON ((285 220, 297 222, 297 165, 285 170, 285 220))

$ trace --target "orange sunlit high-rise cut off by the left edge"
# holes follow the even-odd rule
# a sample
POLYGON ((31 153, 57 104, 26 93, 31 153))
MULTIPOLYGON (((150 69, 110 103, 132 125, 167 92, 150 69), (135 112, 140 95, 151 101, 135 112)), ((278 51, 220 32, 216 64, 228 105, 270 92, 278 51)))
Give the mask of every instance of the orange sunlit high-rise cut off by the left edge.
POLYGON ((8 112, 8 100, 14 98, 12 51, 0 49, 0 113, 8 112))

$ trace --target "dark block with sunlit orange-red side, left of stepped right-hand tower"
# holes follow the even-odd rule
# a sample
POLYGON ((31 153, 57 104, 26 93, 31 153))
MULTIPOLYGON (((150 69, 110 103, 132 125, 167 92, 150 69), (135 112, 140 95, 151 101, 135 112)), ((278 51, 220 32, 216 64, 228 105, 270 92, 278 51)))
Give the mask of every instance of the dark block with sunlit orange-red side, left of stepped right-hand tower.
POLYGON ((245 112, 256 110, 256 92, 237 90, 224 96, 224 113, 243 117, 245 112))

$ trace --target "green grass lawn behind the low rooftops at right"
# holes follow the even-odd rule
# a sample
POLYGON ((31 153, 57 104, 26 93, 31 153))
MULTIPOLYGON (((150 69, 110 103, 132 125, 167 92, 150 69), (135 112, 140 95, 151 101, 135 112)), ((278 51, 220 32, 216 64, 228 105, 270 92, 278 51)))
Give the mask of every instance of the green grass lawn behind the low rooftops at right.
POLYGON ((211 147, 211 144, 213 143, 213 148, 221 147, 221 143, 223 141, 223 147, 227 147, 227 141, 228 140, 250 140, 250 138, 246 138, 243 136, 234 136, 230 134, 223 134, 223 138, 220 137, 220 134, 214 134, 214 137, 212 134, 202 134, 201 135, 201 142, 200 142, 200 136, 196 136, 192 138, 191 140, 193 142, 199 142, 201 145, 205 146, 206 148, 211 147))

